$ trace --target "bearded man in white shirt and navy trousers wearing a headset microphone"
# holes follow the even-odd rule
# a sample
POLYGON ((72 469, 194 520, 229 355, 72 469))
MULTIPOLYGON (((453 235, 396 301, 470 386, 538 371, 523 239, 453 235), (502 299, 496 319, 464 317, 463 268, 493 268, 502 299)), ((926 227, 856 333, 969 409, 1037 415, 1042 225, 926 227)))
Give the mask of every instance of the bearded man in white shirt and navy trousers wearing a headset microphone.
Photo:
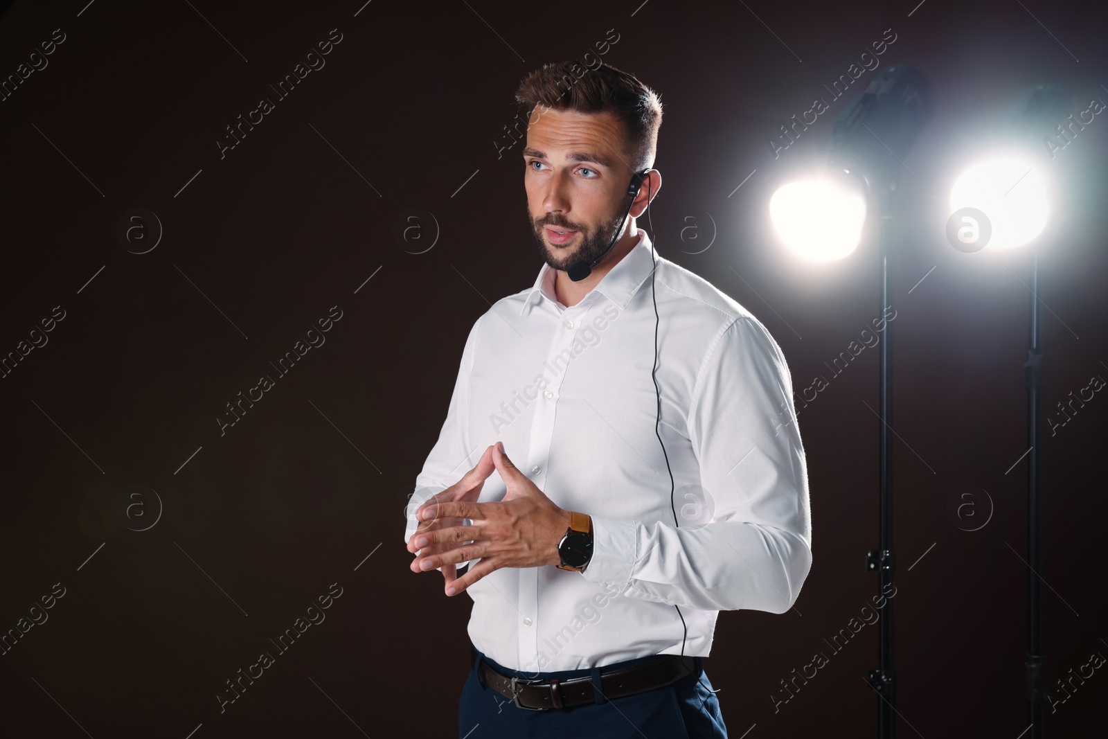
POLYGON ((473 325, 404 532, 414 572, 473 599, 459 736, 726 737, 719 610, 784 613, 811 566, 789 370, 636 227, 661 185, 650 89, 561 63, 516 99, 546 264, 473 325))

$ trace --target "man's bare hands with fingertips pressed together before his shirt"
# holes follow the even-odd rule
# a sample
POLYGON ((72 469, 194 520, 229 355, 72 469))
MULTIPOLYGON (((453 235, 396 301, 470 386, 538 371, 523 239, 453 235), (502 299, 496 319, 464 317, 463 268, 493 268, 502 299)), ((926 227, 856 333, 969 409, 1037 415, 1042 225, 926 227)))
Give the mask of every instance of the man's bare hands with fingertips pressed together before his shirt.
POLYGON ((501 567, 538 567, 562 562, 557 545, 570 527, 570 512, 557 506, 504 454, 504 444, 485 449, 476 466, 416 510, 419 526, 408 540, 416 554, 412 572, 442 567, 447 595, 456 595, 501 567), (500 501, 478 503, 481 487, 496 470, 506 492, 500 501), (463 525, 470 519, 473 525, 463 525), (463 544, 462 542, 471 542, 463 544), (465 574, 456 565, 471 562, 465 574))

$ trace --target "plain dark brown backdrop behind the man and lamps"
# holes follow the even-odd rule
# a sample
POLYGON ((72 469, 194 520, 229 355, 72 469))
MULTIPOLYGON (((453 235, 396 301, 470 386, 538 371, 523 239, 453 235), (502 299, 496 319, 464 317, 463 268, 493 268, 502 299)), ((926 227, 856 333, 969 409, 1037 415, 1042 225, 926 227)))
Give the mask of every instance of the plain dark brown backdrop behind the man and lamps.
MULTIPOLYGON (((897 730, 1017 737, 1027 726, 1026 459, 1005 471, 1027 449, 1020 280, 1030 259, 955 252, 945 203, 1027 85, 1065 85, 1075 113, 1108 99, 1096 19, 1081 3, 1042 0, 927 0, 911 17, 916 0, 373 0, 355 17, 362 1, 98 0, 83 12, 86 0, 16 2, 0 20, 3 75, 53 29, 68 35, 0 102, 0 351, 54 306, 66 311, 49 343, 0 380, 0 629, 54 583, 68 588, 0 657, 4 733, 184 739, 202 725, 194 737, 380 737, 401 726, 456 736, 471 602, 408 571, 401 531, 469 327, 486 299, 526 287, 541 266, 520 146, 497 160, 493 143, 516 113, 517 81, 615 29, 605 61, 666 106, 665 184, 652 207, 659 253, 751 309, 799 391, 879 315, 875 245, 815 268, 782 254, 768 229, 770 194, 811 161, 844 101, 779 160, 767 141, 892 28, 882 63, 919 66, 936 99, 905 160, 893 266, 897 730), (224 126, 273 97, 268 84, 334 28, 343 40, 326 66, 220 160, 224 126), (421 255, 392 238, 413 206, 441 227, 421 255), (115 238, 132 207, 164 227, 144 255, 115 238), (702 228, 705 212, 717 237, 687 254, 704 242, 683 234, 686 217, 702 228), (343 317, 326 345, 220 437, 224 403, 335 305, 343 317), (131 484, 164 502, 148 531, 115 514, 131 484), (995 504, 976 532, 946 512, 964 484, 995 504), (220 715, 224 681, 331 583, 343 594, 326 622, 220 715)), ((1108 377, 1106 142, 1098 115, 1053 161, 1039 153, 1056 204, 1039 239, 1049 407, 1108 377)), ((876 546, 878 419, 864 403, 876 408, 876 360, 863 352, 800 412, 814 563, 797 609, 719 619, 707 664, 733 737, 752 725, 749 739, 875 735, 878 698, 864 684, 875 626, 777 714, 770 694, 875 592, 864 553, 876 546)), ((1106 421, 1097 393, 1046 440, 1051 682, 1108 655, 1096 472, 1106 421)), ((1050 717, 1054 736, 1102 723, 1106 695, 1097 670, 1050 717)))

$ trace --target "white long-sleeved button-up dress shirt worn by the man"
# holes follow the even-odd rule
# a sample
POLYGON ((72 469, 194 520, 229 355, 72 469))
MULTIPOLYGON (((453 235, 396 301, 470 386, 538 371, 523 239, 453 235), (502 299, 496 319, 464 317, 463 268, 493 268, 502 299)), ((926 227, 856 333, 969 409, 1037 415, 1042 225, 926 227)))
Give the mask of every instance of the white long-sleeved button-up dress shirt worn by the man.
MULTIPOLYGON (((496 441, 554 503, 593 517, 583 573, 502 567, 466 589, 470 639, 505 667, 707 656, 720 609, 784 613, 811 567, 807 464, 780 348, 707 280, 655 263, 638 233, 577 305, 557 301, 543 265, 533 287, 474 322, 416 479, 406 542, 416 507, 496 441), (655 433, 653 264, 673 497, 655 433)), ((494 471, 478 502, 504 493, 494 471)))

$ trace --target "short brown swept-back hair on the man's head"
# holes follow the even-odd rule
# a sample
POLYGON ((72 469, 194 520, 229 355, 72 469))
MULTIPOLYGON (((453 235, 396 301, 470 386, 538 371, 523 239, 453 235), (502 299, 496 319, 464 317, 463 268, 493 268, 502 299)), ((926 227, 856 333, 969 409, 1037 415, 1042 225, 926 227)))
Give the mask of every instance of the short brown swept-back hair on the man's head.
POLYGON ((603 62, 595 69, 576 61, 543 64, 523 78, 515 100, 527 106, 529 116, 538 104, 557 111, 612 113, 623 124, 624 152, 633 170, 654 165, 661 101, 634 74, 603 62))

